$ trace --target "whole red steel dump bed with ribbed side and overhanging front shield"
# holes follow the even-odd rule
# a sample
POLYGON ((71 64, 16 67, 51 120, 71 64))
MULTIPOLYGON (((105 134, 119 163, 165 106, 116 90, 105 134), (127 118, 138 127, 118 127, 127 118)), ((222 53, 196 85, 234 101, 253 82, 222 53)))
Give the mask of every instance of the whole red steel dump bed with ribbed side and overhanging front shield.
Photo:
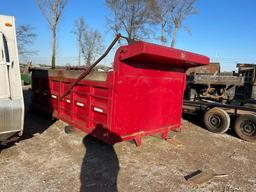
POLYGON ((208 63, 205 56, 137 42, 117 50, 105 81, 84 79, 62 100, 75 78, 67 70, 34 70, 33 105, 110 144, 140 144, 141 136, 153 133, 165 139, 181 125, 184 72, 208 63))

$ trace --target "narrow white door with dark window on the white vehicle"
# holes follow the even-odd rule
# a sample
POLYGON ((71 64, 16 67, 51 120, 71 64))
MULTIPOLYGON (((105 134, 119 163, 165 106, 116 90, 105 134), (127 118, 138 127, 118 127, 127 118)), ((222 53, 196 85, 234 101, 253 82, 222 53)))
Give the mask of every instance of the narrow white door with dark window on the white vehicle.
POLYGON ((0 99, 10 98, 9 62, 6 38, 0 32, 0 99))

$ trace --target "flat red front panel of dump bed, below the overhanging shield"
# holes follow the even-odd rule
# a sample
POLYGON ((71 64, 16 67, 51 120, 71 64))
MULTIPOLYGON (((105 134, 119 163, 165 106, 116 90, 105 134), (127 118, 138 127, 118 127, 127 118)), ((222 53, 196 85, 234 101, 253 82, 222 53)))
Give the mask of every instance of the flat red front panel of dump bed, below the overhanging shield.
POLYGON ((151 64, 116 65, 114 132, 122 136, 180 127, 185 74, 182 69, 151 64))

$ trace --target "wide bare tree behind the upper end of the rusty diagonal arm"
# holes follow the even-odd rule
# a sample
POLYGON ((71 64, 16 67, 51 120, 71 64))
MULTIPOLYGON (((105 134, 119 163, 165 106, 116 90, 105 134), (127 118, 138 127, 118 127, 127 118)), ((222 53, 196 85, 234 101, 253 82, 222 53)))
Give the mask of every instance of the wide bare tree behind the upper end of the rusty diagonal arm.
POLYGON ((147 37, 152 30, 149 25, 154 19, 151 14, 152 2, 148 0, 106 0, 113 16, 107 22, 114 33, 126 33, 128 44, 147 37))

